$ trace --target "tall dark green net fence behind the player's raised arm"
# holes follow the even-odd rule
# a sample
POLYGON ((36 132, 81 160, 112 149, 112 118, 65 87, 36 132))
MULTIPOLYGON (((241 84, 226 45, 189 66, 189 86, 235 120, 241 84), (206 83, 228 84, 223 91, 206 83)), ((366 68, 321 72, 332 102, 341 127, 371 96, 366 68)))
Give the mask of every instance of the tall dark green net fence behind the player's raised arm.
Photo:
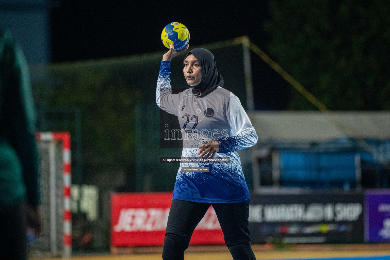
MULTIPOLYGON (((246 108, 243 45, 231 40, 203 47, 215 55, 224 87, 230 88, 246 108)), ((152 176, 156 184, 150 185, 137 184, 135 178, 136 169, 138 173, 139 169, 146 171, 152 164, 160 172, 172 172, 170 166, 161 168, 153 156, 178 155, 177 149, 158 149, 160 110, 155 100, 163 53, 30 68, 38 130, 71 132, 74 183, 103 185, 96 176, 124 172, 124 189, 142 191, 145 186, 151 191, 172 190, 172 178, 152 176), (137 141, 137 136, 141 140, 137 141), (137 156, 137 151, 142 155, 137 156)), ((172 88, 187 86, 183 58, 172 60, 172 88)))

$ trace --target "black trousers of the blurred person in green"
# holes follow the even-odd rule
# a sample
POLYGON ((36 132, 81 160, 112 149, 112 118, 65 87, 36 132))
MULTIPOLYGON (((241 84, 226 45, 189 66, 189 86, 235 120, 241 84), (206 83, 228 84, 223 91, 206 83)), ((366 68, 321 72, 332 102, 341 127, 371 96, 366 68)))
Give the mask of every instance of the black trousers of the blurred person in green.
POLYGON ((26 260, 26 220, 22 205, 0 210, 0 260, 26 260))

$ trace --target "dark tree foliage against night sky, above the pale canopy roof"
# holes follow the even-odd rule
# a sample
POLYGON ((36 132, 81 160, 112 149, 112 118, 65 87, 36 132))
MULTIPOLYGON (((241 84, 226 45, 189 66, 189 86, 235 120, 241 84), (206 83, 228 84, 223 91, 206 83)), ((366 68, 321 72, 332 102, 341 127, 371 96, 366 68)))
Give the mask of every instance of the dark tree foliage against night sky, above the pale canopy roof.
MULTIPOLYGON (((390 109, 390 2, 270 2, 268 51, 330 110, 390 109)), ((314 106, 292 89, 291 110, 314 106)))

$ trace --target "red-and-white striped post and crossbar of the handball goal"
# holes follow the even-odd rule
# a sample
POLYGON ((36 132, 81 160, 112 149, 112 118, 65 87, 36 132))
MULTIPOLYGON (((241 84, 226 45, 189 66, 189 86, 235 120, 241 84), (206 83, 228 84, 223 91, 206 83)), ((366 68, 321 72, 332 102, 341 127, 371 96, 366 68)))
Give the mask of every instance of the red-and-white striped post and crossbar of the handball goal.
POLYGON ((72 252, 72 215, 70 210, 71 199, 71 136, 68 132, 36 133, 37 141, 61 141, 62 163, 64 175, 64 251, 62 256, 69 258, 72 252))

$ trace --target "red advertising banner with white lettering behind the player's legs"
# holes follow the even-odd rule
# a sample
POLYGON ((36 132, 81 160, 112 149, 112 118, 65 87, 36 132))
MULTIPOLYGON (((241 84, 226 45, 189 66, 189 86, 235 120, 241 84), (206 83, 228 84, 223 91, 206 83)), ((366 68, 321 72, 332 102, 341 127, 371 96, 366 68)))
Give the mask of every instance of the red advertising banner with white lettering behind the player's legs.
MULTIPOLYGON (((161 246, 172 193, 112 193, 112 246, 161 246)), ((195 228, 190 244, 224 244, 215 210, 210 207, 195 228)))

